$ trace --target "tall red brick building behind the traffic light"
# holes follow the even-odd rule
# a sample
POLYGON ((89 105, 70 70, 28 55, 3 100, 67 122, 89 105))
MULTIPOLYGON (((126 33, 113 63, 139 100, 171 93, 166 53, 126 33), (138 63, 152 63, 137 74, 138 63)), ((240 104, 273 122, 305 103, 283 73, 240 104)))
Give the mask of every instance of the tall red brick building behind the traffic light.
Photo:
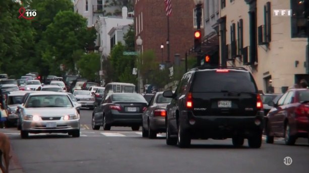
MULTIPOLYGON (((169 17, 169 44, 170 62, 174 63, 174 55, 184 58, 186 51, 194 46, 194 12, 195 5, 193 0, 172 0, 172 14, 169 17)), ((143 40, 142 51, 152 49, 158 62, 163 59, 167 61, 167 16, 164 1, 136 0, 135 7, 135 39, 141 36, 143 40)), ((203 15, 202 15, 203 16, 203 15)), ((203 18, 202 18, 203 21, 203 18)), ((201 23, 202 36, 204 35, 204 22, 201 23)), ((137 47, 137 46, 136 46, 137 47)))

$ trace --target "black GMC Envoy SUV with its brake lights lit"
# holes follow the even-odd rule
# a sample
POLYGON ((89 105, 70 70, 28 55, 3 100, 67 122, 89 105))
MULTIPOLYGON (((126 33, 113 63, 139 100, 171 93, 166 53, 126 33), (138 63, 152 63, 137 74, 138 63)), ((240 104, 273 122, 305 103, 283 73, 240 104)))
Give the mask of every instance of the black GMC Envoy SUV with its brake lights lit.
POLYGON ((186 148, 191 139, 232 138, 234 146, 260 148, 263 102, 251 73, 237 67, 198 67, 184 74, 167 105, 166 144, 186 148))

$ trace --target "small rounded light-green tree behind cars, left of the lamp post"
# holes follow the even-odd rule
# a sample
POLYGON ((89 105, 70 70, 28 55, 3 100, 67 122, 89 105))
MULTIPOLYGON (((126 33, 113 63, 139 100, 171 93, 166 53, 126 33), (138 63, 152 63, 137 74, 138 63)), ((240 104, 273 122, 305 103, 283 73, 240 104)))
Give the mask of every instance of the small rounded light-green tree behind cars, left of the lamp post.
POLYGON ((100 54, 83 54, 81 59, 77 62, 77 67, 80 69, 80 74, 82 77, 92 81, 98 80, 98 72, 100 70, 100 54))

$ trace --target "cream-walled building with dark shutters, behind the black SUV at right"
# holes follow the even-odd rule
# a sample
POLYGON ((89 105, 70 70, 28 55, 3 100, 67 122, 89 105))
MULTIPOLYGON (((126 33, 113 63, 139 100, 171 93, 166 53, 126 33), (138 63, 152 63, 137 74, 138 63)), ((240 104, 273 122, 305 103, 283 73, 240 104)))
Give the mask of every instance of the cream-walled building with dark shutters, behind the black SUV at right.
POLYGON ((248 69, 264 92, 309 81, 302 0, 218 1, 221 64, 248 69), (275 16, 275 9, 292 9, 292 17, 275 16))

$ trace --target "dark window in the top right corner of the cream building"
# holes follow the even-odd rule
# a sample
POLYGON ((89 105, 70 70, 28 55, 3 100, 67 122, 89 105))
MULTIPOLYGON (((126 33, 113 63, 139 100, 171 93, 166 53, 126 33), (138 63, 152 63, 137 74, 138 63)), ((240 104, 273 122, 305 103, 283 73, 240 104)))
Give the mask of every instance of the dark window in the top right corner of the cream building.
POLYGON ((307 37, 307 20, 304 16, 305 6, 304 0, 291 0, 292 21, 291 30, 292 37, 307 37))

